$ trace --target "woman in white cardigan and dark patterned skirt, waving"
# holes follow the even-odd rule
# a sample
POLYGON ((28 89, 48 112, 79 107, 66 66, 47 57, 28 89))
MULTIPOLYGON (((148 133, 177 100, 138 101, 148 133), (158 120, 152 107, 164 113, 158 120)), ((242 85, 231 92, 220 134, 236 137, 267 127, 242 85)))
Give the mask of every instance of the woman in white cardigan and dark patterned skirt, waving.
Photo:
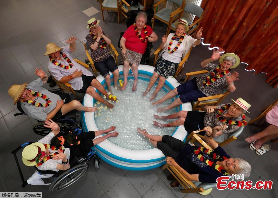
POLYGON ((196 33, 196 38, 194 39, 191 36, 185 34, 189 30, 187 21, 184 19, 179 19, 175 22, 176 32, 162 37, 162 43, 159 45, 159 48, 162 49, 159 57, 156 61, 154 68, 154 74, 150 79, 150 83, 143 95, 146 95, 156 80, 159 78, 158 85, 156 90, 150 97, 150 101, 154 100, 158 91, 163 87, 166 79, 169 76, 174 76, 178 68, 179 63, 182 61, 182 58, 186 56, 190 48, 201 43, 202 31, 201 27, 196 33))

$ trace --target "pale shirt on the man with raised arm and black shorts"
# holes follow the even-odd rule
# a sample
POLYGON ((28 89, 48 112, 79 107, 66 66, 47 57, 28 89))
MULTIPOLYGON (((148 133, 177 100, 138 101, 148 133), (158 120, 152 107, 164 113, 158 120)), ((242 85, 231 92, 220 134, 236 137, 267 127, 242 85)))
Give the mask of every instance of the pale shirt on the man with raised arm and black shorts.
MULTIPOLYGON (((78 71, 81 70, 83 72, 83 74, 86 76, 93 76, 93 74, 89 70, 87 70, 82 65, 78 64, 76 61, 74 61, 73 57, 70 56, 71 51, 70 51, 69 45, 63 47, 62 53, 65 54, 70 59, 70 61, 73 64, 73 67, 65 70, 62 67, 54 65, 49 60, 48 61, 48 70, 49 70, 50 74, 54 78, 56 78, 57 81, 60 81, 61 78, 65 77, 65 76, 69 76, 69 75, 73 74, 75 70, 78 70, 78 71)), ((66 66, 70 65, 62 56, 61 56, 61 58, 62 58, 62 61, 58 60, 57 61, 58 63, 61 63, 62 65, 66 65, 66 66)), ((71 79, 68 83, 70 83, 72 88, 77 91, 81 90, 83 87, 83 81, 82 81, 81 77, 71 79)))

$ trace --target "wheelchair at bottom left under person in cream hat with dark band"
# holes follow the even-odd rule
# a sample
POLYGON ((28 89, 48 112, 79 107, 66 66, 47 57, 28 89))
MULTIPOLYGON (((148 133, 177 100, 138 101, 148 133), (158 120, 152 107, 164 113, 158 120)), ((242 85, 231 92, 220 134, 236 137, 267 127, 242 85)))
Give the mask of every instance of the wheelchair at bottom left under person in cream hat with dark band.
MULTIPOLYGON (((24 146, 32 144, 32 143, 33 142, 26 142, 11 152, 15 157, 15 162, 18 167, 19 174, 20 174, 20 177, 21 177, 21 180, 23 183, 21 185, 22 187, 26 187, 28 185, 28 183, 27 183, 27 180, 25 180, 23 177, 16 153, 24 146)), ((40 175, 53 174, 52 182, 49 186, 49 190, 50 191, 59 191, 66 187, 69 187, 70 185, 75 183, 78 179, 81 179, 87 172, 88 166, 89 166, 88 161, 90 161, 91 159, 94 160, 95 168, 98 169, 100 167, 100 159, 95 154, 95 151, 90 151, 86 156, 73 159, 73 161, 70 162, 71 168, 66 171, 61 171, 61 170, 59 170, 58 172, 56 172, 56 171, 40 171, 35 166, 34 167, 36 168, 36 171, 38 171, 38 173, 40 175)))

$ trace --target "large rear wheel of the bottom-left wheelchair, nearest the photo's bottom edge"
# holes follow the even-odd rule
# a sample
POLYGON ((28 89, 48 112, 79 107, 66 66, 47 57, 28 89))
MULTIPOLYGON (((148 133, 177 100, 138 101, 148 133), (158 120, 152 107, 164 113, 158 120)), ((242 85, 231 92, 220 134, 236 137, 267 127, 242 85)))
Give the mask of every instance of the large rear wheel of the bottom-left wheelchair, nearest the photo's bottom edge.
POLYGON ((82 163, 63 172, 50 184, 49 190, 59 191, 70 186, 85 175, 87 168, 88 165, 86 163, 82 163))

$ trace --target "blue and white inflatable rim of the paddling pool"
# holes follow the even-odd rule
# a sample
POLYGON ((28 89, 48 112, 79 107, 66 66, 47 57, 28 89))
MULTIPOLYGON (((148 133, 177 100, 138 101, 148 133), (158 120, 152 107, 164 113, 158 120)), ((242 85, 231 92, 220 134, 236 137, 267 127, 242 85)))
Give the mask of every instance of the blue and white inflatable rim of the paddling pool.
MULTIPOLYGON (((118 68, 120 75, 122 75, 123 65, 119 65, 118 68)), ((129 73, 131 73, 130 70, 129 73)), ((154 67, 149 65, 139 65, 138 73, 139 76, 140 74, 145 74, 151 77, 154 73, 154 67)), ((110 73, 110 75, 112 75, 112 73, 110 73)), ((101 84, 105 83, 105 79, 101 75, 97 76, 97 80, 101 84)), ((175 78, 172 78, 172 76, 167 78, 165 84, 170 87, 171 90, 180 85, 175 78)), ((91 95, 85 94, 83 105, 87 107, 93 107, 93 104, 93 97, 91 95)), ((191 103, 182 104, 180 106, 180 110, 192 111, 191 103)), ((83 112, 82 127, 83 130, 86 131, 98 130, 95 124, 94 113, 83 112)), ((187 136, 184 126, 178 126, 172 136, 183 141, 187 136)), ((149 150, 129 150, 115 145, 109 140, 105 140, 92 147, 92 150, 96 150, 97 155, 108 164, 126 170, 149 170, 162 166, 166 163, 165 155, 157 148, 149 150)))

